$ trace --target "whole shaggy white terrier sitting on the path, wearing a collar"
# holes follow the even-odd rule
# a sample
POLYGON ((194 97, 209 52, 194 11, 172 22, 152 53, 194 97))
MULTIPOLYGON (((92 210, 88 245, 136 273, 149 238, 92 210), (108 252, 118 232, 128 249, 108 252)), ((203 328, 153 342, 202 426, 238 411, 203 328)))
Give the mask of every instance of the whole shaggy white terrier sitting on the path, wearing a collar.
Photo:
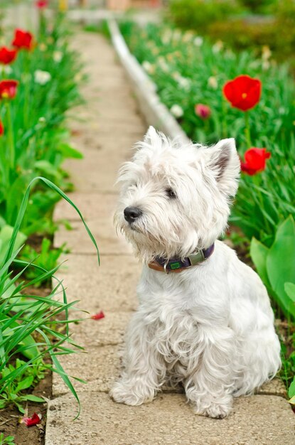
POLYGON ((139 405, 167 380, 182 382, 197 414, 222 418, 233 396, 250 394, 281 365, 264 285, 217 240, 237 191, 235 140, 179 146, 150 127, 137 148, 120 172, 115 222, 146 264, 110 394, 139 405))

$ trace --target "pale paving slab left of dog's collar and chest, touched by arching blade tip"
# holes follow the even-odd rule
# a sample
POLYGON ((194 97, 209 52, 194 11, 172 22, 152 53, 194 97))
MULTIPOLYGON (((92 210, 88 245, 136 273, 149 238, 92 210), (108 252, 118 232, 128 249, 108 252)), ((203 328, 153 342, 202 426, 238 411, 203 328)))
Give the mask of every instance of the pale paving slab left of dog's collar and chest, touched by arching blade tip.
POLYGON ((102 255, 100 267, 95 255, 65 255, 65 265, 57 273, 67 287, 69 301, 90 313, 134 311, 136 284, 141 264, 128 255, 102 255))

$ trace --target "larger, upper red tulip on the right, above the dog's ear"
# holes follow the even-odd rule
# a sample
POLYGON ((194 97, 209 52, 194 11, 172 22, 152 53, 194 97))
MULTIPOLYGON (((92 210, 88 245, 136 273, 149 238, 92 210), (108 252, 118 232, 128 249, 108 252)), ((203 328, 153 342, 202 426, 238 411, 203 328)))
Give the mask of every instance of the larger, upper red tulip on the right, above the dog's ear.
POLYGON ((232 107, 247 111, 253 108, 260 99, 262 84, 259 79, 240 75, 229 80, 223 87, 223 94, 232 107))

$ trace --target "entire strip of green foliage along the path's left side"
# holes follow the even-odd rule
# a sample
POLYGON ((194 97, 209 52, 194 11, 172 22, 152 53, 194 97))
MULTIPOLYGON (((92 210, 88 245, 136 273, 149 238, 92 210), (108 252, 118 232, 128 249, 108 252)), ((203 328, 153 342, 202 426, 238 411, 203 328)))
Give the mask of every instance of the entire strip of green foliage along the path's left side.
MULTIPOLYGON (((83 79, 68 37, 61 16, 55 16, 53 23, 42 21, 34 36, 35 47, 20 50, 2 73, 17 80, 18 87, 14 99, 0 100, 4 124, 0 137, 0 408, 14 404, 21 412, 27 402, 43 402, 31 390, 48 370, 68 385, 80 412, 73 382, 59 360, 62 354, 82 350, 69 331, 69 324, 77 321, 68 319, 76 301, 68 302, 63 283, 55 278, 63 247, 51 247, 56 230, 53 208, 63 198, 80 215, 97 249, 80 210, 62 191, 73 188, 63 161, 82 158, 68 144, 65 123, 68 110, 82 102, 77 86, 83 79), (28 246, 23 249, 26 238, 34 234, 48 236, 37 257, 28 246), (51 282, 53 289, 46 296, 29 291, 51 282)), ((12 34, 4 33, 4 38, 9 45, 12 34)))

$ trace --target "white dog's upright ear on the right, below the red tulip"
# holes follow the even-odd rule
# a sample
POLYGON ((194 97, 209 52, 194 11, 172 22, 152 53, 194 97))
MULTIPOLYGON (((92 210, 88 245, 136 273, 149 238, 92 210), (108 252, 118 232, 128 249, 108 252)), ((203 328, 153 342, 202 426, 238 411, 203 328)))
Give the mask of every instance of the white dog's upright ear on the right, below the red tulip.
POLYGON ((220 190, 226 195, 235 196, 240 173, 235 139, 222 139, 211 148, 210 166, 216 172, 220 190))

